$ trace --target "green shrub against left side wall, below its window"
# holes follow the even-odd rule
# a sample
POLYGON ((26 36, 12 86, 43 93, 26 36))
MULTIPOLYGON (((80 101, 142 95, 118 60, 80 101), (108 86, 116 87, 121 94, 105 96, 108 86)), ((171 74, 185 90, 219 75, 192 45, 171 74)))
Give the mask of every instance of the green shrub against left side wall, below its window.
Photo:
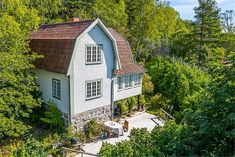
POLYGON ((48 103, 44 117, 40 119, 42 122, 48 124, 50 129, 54 128, 61 131, 64 128, 61 112, 54 103, 48 103))

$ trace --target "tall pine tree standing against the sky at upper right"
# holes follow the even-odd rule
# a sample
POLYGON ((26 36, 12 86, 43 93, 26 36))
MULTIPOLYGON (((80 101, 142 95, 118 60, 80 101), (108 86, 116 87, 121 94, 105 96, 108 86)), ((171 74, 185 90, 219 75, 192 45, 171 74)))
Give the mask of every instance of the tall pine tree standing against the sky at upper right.
POLYGON ((220 9, 215 0, 198 0, 195 11, 195 49, 198 51, 198 65, 204 66, 207 49, 216 47, 221 36, 220 9))

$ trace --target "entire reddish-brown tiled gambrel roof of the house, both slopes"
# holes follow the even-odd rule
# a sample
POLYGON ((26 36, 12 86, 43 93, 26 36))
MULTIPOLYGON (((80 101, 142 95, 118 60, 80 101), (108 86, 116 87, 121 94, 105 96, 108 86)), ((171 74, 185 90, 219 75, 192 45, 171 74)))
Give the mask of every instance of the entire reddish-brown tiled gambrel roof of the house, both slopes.
POLYGON ((99 23, 114 43, 118 66, 116 74, 143 72, 143 68, 133 62, 128 42, 114 29, 106 29, 97 20, 66 22, 42 25, 31 34, 30 48, 44 58, 35 61, 35 67, 51 72, 67 74, 73 56, 76 39, 87 29, 99 23))

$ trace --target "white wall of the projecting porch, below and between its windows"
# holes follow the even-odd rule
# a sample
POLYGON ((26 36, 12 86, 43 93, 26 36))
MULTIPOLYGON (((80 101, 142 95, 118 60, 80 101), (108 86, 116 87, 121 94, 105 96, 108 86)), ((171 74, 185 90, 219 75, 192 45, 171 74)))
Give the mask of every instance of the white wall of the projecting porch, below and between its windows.
POLYGON ((140 86, 135 86, 132 80, 132 85, 130 88, 125 88, 125 82, 122 83, 122 90, 118 89, 117 77, 114 79, 114 101, 122 100, 131 96, 140 95, 142 92, 142 79, 140 86))

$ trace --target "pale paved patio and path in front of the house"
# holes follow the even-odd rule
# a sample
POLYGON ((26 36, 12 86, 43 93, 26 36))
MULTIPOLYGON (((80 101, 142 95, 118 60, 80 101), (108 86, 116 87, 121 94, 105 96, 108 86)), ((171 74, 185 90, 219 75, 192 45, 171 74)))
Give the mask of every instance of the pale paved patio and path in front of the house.
MULTIPOLYGON (((106 140, 103 140, 103 142, 115 144, 117 142, 127 140, 132 128, 147 128, 148 131, 151 131, 155 126, 157 126, 157 124, 152 119, 154 119, 154 121, 158 123, 158 125, 160 126, 164 125, 162 121, 158 120, 155 115, 146 112, 137 112, 134 116, 126 118, 126 120, 129 122, 128 132, 124 132, 123 136, 120 136, 118 138, 108 138, 106 140)), ((97 154, 99 153, 101 147, 102 147, 102 140, 86 144, 83 147, 83 150, 87 153, 97 154)), ((76 157, 80 156, 81 155, 77 155, 76 157)), ((85 156, 88 157, 88 155, 83 155, 83 157, 85 156)))

